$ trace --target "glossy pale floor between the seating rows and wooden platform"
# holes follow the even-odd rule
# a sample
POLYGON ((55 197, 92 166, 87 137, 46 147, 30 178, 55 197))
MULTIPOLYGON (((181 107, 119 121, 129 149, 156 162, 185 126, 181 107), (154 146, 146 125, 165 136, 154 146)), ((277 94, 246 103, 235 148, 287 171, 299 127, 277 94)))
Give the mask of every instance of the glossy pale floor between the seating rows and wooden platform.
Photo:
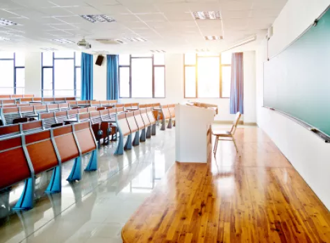
MULTIPOLYGON (((13 212, 22 185, 0 194, 0 243, 122 242, 122 226, 172 166, 174 129, 113 156, 116 143, 99 149, 99 169, 68 183, 72 162, 63 165, 60 194, 44 194, 51 171, 38 176, 35 208, 13 212)), ((88 157, 83 160, 87 164, 88 157)))

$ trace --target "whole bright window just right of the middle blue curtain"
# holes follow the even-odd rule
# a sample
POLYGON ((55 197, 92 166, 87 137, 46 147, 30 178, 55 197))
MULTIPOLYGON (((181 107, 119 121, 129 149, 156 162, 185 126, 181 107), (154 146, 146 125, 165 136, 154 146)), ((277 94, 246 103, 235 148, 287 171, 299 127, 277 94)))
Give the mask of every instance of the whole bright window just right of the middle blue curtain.
POLYGON ((119 55, 120 98, 165 98, 164 54, 119 55))

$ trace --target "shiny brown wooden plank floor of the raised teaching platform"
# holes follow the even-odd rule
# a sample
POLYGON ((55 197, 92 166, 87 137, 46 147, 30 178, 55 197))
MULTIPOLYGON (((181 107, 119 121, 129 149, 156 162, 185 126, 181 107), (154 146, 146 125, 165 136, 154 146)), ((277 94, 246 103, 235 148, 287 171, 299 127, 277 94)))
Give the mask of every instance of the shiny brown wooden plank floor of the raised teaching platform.
POLYGON ((208 164, 175 163, 122 230, 136 242, 330 242, 330 213, 259 128, 208 164))

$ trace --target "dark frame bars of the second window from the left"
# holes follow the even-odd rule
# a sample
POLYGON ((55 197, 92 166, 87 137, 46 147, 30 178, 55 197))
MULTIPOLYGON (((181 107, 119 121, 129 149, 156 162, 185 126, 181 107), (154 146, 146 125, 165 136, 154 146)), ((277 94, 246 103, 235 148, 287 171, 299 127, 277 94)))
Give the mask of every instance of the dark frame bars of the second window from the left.
MULTIPOLYGON (((54 89, 54 87, 55 87, 55 60, 73 60, 74 61, 74 97, 77 97, 77 90, 76 90, 76 69, 81 69, 81 65, 80 66, 77 66, 76 65, 76 54, 77 54, 77 52, 76 51, 73 51, 73 53, 74 53, 74 57, 73 58, 56 58, 55 57, 55 52, 54 51, 52 51, 51 53, 52 53, 52 64, 51 64, 51 66, 49 66, 49 65, 47 65, 47 66, 44 66, 43 65, 43 59, 44 59, 44 55, 43 55, 43 53, 44 52, 42 52, 41 53, 41 90, 42 90, 42 92, 41 92, 41 97, 44 97, 44 69, 47 69, 47 68, 51 68, 51 69, 53 69, 52 70, 52 83, 51 83, 51 85, 52 85, 52 94, 53 94, 53 97, 55 97, 55 89, 54 89)), ((80 96, 79 96, 80 97, 80 96)))

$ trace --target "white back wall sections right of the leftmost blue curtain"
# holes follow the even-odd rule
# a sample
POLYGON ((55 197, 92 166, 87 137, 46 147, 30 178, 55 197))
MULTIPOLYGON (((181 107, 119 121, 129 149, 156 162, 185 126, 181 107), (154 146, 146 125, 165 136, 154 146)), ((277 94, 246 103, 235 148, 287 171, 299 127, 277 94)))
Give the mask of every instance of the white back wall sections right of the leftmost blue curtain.
MULTIPOLYGON (((245 87, 247 92, 245 94, 245 116, 248 117, 247 122, 256 122, 256 95, 255 95, 255 52, 244 52, 244 72, 245 72, 245 87)), ((188 99, 184 99, 184 74, 183 74, 183 54, 170 54, 165 55, 165 99, 119 99, 119 102, 129 103, 180 103, 188 99)), ((94 65, 94 99, 106 99, 106 67, 95 67, 94 65)), ((197 100, 197 99, 191 99, 197 100)), ((215 103, 219 107, 219 115, 215 117, 219 121, 232 121, 234 115, 229 112, 229 99, 198 99, 205 103, 215 103)), ((245 120, 245 118, 243 118, 245 120)))

